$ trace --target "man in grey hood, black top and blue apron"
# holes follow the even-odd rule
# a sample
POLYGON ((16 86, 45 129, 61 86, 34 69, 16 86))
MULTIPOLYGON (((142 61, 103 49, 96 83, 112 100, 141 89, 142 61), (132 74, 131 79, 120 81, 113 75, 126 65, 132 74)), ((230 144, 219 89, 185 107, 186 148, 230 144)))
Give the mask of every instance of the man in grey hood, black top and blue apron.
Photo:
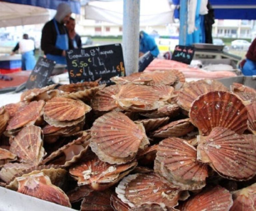
POLYGON ((56 15, 44 25, 42 30, 41 49, 46 58, 55 61, 56 64, 67 64, 65 51, 73 48, 64 25, 69 21, 70 16, 70 6, 60 3, 56 15))

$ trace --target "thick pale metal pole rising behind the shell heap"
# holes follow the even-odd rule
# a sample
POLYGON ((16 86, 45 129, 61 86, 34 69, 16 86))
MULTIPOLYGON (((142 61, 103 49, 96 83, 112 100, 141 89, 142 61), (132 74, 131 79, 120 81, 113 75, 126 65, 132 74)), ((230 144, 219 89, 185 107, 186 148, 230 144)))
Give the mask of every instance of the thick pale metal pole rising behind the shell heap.
POLYGON ((140 0, 124 0, 123 54, 126 75, 138 72, 140 0))

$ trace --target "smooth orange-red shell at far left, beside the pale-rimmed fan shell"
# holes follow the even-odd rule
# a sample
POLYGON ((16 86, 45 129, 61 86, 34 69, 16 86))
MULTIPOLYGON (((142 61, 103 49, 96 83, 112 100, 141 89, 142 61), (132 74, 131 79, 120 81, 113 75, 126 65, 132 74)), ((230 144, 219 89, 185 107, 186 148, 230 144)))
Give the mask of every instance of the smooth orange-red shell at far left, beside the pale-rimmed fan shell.
POLYGON ((44 101, 33 101, 26 106, 17 109, 13 117, 9 120, 7 130, 14 130, 26 125, 33 125, 43 114, 44 101))

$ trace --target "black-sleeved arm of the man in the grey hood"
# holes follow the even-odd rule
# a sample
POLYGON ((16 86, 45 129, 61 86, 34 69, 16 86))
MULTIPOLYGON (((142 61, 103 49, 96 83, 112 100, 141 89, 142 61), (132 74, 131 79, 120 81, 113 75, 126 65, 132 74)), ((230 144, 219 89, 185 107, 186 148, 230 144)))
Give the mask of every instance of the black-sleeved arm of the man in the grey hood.
POLYGON ((63 54, 63 50, 55 47, 56 32, 53 32, 53 28, 50 22, 44 25, 41 38, 41 49, 45 54, 59 55, 63 54))

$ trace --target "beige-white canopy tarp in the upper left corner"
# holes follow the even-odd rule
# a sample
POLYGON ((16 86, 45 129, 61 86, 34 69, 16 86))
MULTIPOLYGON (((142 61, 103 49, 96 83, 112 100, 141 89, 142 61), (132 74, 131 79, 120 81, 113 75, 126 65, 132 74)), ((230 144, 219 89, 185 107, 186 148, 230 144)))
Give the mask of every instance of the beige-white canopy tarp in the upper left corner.
POLYGON ((50 12, 42 7, 0 1, 0 27, 45 23, 50 12))

